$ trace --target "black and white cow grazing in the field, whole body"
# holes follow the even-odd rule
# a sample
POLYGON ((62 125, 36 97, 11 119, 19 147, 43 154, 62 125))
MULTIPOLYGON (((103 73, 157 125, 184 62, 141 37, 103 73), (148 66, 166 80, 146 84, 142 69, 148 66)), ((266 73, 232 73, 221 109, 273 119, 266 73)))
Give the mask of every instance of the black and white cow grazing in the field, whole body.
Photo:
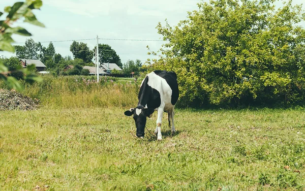
POLYGON ((137 137, 144 138, 146 117, 151 117, 155 110, 158 111, 157 128, 158 140, 162 140, 161 123, 163 111, 168 112, 168 122, 172 121, 171 131, 175 132, 174 107, 179 97, 177 75, 174 72, 156 70, 146 75, 142 81, 138 95, 139 103, 136 108, 125 111, 136 123, 137 137))

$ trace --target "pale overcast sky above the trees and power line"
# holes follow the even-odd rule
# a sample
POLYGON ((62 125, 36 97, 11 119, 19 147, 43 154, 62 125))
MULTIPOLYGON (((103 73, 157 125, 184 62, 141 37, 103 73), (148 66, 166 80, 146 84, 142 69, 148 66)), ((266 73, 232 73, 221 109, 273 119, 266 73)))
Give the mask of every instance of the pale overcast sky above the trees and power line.
MULTIPOLYGON (((206 1, 206 0, 204 0, 206 1)), ((1 0, 0 10, 12 6, 17 1, 1 0)), ((41 10, 34 13, 45 28, 27 23, 18 23, 26 28, 32 37, 14 35, 17 43, 24 45, 26 38, 33 38, 35 42, 52 41, 56 53, 62 56, 70 55, 72 41, 55 42, 79 39, 127 39, 99 40, 101 44, 109 44, 120 56, 121 61, 140 59, 145 62, 148 45, 151 50, 157 51, 162 41, 129 41, 162 40, 157 33, 158 22, 165 24, 165 19, 173 26, 180 20, 187 18, 188 11, 197 10, 200 0, 43 0, 41 10)), ((301 4, 302 0, 293 0, 294 4, 301 4)), ((2 18, 3 19, 3 18, 2 18)), ((305 27, 305 26, 304 26, 305 27)), ((80 41, 78 41, 80 42, 80 41)), ((83 40, 90 49, 96 45, 96 40, 83 40)), ((48 46, 49 42, 42 43, 48 46)), ((10 57, 14 54, 0 52, 0 55, 10 57)))

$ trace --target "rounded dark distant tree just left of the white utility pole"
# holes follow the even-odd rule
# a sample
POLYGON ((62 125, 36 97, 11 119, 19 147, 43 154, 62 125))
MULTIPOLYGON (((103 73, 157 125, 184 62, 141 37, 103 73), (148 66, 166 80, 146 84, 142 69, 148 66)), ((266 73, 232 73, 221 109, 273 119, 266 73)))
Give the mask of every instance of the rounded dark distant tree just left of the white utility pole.
POLYGON ((92 62, 94 51, 90 50, 87 44, 73 41, 70 46, 70 51, 72 52, 74 58, 80 58, 86 63, 92 62))

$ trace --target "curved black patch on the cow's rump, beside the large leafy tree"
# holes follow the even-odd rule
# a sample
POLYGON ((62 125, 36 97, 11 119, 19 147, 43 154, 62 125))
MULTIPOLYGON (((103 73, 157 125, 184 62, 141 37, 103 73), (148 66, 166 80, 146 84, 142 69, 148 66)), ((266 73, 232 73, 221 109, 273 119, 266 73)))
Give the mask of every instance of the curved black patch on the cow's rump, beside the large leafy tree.
POLYGON ((174 72, 168 72, 164 70, 155 70, 154 73, 160 76, 161 78, 165 79, 168 85, 170 86, 170 88, 172 89, 171 104, 175 105, 179 98, 177 74, 174 72))

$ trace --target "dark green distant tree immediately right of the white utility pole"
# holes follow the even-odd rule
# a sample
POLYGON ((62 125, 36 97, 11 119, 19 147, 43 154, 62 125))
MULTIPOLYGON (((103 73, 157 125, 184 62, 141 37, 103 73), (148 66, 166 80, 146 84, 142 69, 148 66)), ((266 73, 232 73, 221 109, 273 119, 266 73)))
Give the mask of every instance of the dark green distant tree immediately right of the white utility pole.
MULTIPOLYGON (((94 50, 95 49, 96 46, 94 50)), ((120 68, 123 67, 119 55, 117 55, 115 50, 113 50, 108 44, 99 44, 99 61, 100 63, 116 63, 120 68)))

